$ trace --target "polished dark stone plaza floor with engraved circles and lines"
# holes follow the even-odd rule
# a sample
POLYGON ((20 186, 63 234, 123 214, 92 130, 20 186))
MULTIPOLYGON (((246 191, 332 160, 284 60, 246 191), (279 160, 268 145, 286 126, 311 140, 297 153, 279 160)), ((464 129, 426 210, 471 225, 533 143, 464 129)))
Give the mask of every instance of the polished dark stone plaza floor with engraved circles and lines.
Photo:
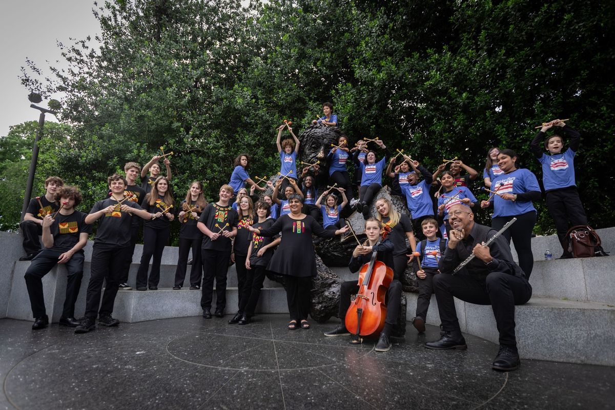
POLYGON ((200 317, 121 323, 89 334, 0 320, 0 408, 17 409, 601 409, 615 368, 523 360, 490 367, 498 347, 434 351, 428 326, 378 353, 325 337, 335 320, 289 331, 287 315, 247 326, 200 317))

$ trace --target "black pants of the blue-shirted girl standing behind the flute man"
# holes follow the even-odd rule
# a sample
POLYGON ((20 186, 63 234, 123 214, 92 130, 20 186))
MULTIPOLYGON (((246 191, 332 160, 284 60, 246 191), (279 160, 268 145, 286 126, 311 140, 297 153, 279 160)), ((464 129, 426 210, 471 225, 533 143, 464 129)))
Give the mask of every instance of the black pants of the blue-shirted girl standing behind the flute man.
POLYGON ((506 238, 510 245, 510 239, 515 244, 515 250, 519 258, 519 267, 525 272, 525 278, 530 280, 534 267, 534 254, 532 253, 532 231, 536 224, 536 211, 523 213, 522 215, 498 216, 491 221, 491 227, 499 231, 510 219, 517 218, 517 222, 512 224, 502 236, 506 238))

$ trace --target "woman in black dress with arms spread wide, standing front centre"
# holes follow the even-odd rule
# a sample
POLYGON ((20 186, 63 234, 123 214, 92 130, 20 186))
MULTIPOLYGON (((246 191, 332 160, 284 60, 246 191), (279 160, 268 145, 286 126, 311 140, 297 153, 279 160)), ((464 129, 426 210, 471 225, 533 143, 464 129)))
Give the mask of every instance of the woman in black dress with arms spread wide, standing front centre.
POLYGON ((312 234, 322 238, 333 238, 348 231, 343 227, 336 231, 324 229, 314 218, 301 212, 303 197, 293 194, 288 197, 290 213, 282 215, 271 227, 255 229, 250 227, 250 232, 265 237, 282 232, 282 242, 274 253, 267 270, 279 275, 284 275, 286 298, 290 322, 288 329, 309 329, 308 313, 310 308, 310 290, 312 277, 316 275, 316 258, 314 246, 312 246, 312 234))

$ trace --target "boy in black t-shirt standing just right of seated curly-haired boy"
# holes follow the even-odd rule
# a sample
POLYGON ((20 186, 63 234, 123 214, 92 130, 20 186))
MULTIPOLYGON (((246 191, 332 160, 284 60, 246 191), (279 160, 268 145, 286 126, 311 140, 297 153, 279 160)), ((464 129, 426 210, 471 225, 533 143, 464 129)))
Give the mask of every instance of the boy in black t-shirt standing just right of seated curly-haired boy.
MULTIPOLYGON (((113 313, 113 304, 122 269, 130 257, 132 218, 138 216, 150 219, 153 216, 148 211, 142 210, 136 202, 125 200, 124 191, 128 183, 124 176, 113 174, 107 181, 111 189, 111 197, 95 203, 89 215, 85 217, 87 224, 93 224, 98 219, 100 222, 92 248, 92 273, 90 283, 87 285, 85 317, 81 325, 75 329, 75 333, 87 333, 94 329, 97 312, 100 325, 119 325, 119 320, 111 317, 111 313, 113 313), (106 282, 105 293, 103 302, 100 304, 103 282, 106 282)), ((158 214, 160 213, 156 215, 158 214)))

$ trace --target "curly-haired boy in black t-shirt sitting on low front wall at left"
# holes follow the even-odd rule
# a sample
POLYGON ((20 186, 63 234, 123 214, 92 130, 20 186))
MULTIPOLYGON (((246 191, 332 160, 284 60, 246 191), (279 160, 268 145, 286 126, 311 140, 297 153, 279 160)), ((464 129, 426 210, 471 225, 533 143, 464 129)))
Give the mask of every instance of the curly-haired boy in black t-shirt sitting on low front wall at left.
POLYGON ((79 321, 74 318, 75 302, 83 277, 83 247, 87 243, 88 235, 92 233, 92 226, 85 223, 85 214, 74 208, 82 200, 79 189, 73 186, 60 187, 55 192, 54 199, 62 203, 62 209, 55 215, 46 215, 42 219, 42 242, 45 248, 32 259, 24 277, 34 316, 34 330, 49 325, 42 292, 42 277, 56 264, 63 264, 68 272, 60 325, 79 325, 79 321))

